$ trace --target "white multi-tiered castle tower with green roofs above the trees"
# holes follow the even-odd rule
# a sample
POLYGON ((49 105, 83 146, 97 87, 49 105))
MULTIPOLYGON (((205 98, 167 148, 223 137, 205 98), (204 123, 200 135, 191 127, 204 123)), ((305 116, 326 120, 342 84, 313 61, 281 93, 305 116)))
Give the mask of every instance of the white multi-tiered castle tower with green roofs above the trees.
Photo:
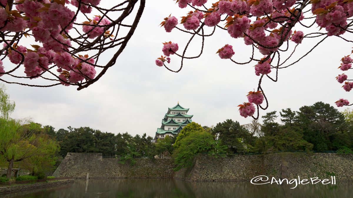
POLYGON ((179 102, 174 107, 168 108, 166 115, 162 119, 161 128, 157 128, 154 140, 164 138, 167 135, 177 136, 184 126, 192 122, 191 118, 193 115, 187 115, 188 111, 189 109, 180 106, 179 102))

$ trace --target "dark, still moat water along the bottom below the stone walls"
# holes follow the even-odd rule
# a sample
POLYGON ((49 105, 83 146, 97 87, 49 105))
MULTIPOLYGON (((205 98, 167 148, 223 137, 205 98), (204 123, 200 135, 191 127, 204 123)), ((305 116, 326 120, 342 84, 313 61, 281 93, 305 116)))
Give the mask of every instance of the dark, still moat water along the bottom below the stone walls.
POLYGON ((90 179, 54 188, 17 192, 18 198, 352 198, 353 182, 336 185, 253 185, 248 181, 187 182, 177 179, 90 179))

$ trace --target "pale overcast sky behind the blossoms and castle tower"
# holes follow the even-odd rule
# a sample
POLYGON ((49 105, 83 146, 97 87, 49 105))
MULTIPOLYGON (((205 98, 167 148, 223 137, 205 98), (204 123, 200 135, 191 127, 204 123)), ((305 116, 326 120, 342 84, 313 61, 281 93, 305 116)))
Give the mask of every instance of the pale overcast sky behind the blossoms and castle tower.
MULTIPOLYGON (((257 87, 259 76, 255 75, 253 68, 256 62, 239 66, 229 60, 221 60, 216 54, 219 48, 231 44, 235 50, 233 58, 247 61, 251 48, 244 44, 243 39, 231 38, 226 31, 216 29, 214 36, 206 38, 202 56, 186 60, 181 72, 172 73, 155 65, 155 59, 162 55, 162 42, 177 42, 181 52, 190 38, 190 35, 176 29, 167 33, 158 25, 170 13, 180 19, 190 10, 178 8, 172 0, 148 0, 143 17, 116 64, 99 81, 81 91, 76 91, 74 86, 35 88, 6 84, 7 93, 16 102, 12 117, 32 118, 34 122, 52 125, 56 130, 67 126, 89 126, 101 131, 127 131, 132 135, 146 133, 154 137, 168 107, 179 101, 181 106, 190 108, 188 114, 194 115, 192 120, 201 125, 216 125, 225 119, 250 123, 251 118, 239 115, 237 106, 247 101, 247 92, 257 87)), ((305 16, 310 17, 311 14, 305 16)), ((303 31, 318 31, 316 27, 315 24, 313 29, 303 31)), ((206 32, 211 31, 206 29, 206 32)), ((352 39, 347 33, 343 36, 352 39)), ((305 54, 317 42, 318 39, 304 39, 289 62, 305 54)), ((191 45, 186 56, 198 55, 201 39, 195 39, 191 45)), ((290 47, 294 47, 293 42, 290 42, 290 47)), ((264 78, 262 87, 269 99, 269 108, 260 114, 287 107, 298 110, 317 101, 335 106, 334 102, 339 98, 352 100, 352 95, 345 92, 342 84, 335 79, 343 73, 337 67, 351 47, 352 44, 330 37, 299 63, 281 69, 278 82, 264 78)), ((257 58, 261 57, 257 54, 257 58)), ((286 55, 283 53, 282 57, 286 55)), ((170 58, 170 67, 179 68, 180 58, 170 58)), ((108 59, 109 54, 100 58, 102 61, 108 59)), ((272 72, 270 76, 274 77, 274 74, 272 72)), ((350 76, 349 72, 346 74, 350 76)))

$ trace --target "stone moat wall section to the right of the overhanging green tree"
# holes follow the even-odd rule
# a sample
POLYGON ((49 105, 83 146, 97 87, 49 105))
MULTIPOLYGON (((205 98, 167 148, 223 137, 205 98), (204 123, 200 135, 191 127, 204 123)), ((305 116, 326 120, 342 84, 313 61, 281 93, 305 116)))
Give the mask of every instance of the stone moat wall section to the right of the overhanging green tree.
POLYGON ((188 181, 250 180, 258 175, 276 179, 336 177, 353 180, 353 154, 277 153, 268 155, 232 155, 214 158, 199 155, 194 166, 183 168, 174 178, 188 181))

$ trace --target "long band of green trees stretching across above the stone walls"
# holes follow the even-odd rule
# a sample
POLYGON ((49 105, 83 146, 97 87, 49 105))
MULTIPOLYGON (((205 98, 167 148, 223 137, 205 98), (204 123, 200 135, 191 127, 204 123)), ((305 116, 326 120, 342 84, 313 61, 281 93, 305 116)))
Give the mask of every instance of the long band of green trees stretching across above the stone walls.
MULTIPOLYGON (((177 137, 166 136, 155 143, 146 134, 113 134, 89 127, 55 130, 38 123, 20 123, 1 118, 0 164, 26 168, 32 175, 53 171, 68 152, 102 153, 120 163, 134 163, 136 157, 172 158, 177 169, 190 165, 198 153, 222 156, 233 153, 274 151, 324 151, 353 153, 353 111, 343 113, 322 102, 282 109, 240 125, 227 119, 216 126, 188 124, 177 137), (17 149, 17 150, 16 150, 17 149), (27 149, 27 150, 26 150, 27 149), (28 151, 29 150, 29 151, 28 151)), ((8 176, 8 175, 7 175, 8 176)), ((8 176, 9 177, 9 176, 8 176)))

